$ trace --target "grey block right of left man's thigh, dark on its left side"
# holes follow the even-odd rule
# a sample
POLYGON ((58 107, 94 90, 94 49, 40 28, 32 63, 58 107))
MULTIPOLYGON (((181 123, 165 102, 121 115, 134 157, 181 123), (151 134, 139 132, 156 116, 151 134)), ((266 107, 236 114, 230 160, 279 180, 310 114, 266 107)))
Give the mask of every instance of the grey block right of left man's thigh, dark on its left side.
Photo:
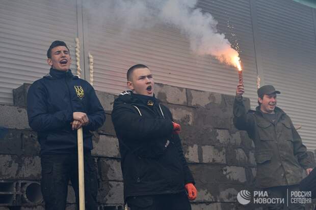
POLYGON ((121 163, 119 160, 99 158, 98 168, 103 181, 123 181, 121 163))

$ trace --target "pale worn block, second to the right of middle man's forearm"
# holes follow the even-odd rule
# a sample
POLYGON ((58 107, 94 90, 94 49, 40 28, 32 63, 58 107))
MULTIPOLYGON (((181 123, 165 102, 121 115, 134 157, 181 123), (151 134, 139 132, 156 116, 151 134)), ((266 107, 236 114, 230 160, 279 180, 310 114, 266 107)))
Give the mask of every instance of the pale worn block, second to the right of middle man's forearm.
POLYGON ((203 163, 226 163, 225 148, 216 148, 212 145, 202 146, 203 163))

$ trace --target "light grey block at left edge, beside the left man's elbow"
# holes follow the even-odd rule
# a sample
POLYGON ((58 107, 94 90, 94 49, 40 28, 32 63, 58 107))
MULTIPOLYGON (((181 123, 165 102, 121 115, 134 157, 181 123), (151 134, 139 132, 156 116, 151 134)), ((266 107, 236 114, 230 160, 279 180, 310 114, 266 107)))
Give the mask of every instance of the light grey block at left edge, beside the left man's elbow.
POLYGON ((11 129, 31 129, 27 110, 17 106, 0 105, 0 127, 11 129))

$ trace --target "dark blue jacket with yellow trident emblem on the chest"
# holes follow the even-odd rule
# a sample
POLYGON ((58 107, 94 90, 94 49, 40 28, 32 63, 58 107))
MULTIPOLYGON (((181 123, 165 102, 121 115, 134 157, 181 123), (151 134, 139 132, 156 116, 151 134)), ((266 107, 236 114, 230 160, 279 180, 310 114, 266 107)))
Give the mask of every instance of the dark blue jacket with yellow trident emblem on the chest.
POLYGON ((93 87, 85 80, 67 72, 50 69, 49 74, 35 81, 28 92, 30 127, 37 131, 41 154, 76 152, 77 132, 70 123, 73 112, 88 115, 89 124, 83 127, 84 149, 93 148, 92 134, 106 120, 104 110, 93 87))

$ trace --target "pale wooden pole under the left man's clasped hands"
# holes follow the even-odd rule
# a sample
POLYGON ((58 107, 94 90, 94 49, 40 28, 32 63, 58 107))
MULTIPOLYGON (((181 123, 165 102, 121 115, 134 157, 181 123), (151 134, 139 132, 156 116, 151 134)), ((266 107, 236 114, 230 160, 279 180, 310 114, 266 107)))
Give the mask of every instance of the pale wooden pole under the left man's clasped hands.
POLYGON ((79 209, 85 210, 85 169, 84 169, 84 139, 82 128, 77 130, 78 141, 78 180, 79 209))

